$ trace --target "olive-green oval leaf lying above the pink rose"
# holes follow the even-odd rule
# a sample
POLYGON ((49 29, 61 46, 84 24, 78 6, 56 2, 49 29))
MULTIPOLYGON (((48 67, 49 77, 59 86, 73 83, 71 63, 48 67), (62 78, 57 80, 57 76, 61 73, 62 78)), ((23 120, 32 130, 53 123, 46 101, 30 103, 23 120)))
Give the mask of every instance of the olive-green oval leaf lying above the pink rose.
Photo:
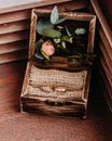
POLYGON ((55 30, 55 29, 52 29, 52 28, 46 28, 46 29, 43 29, 42 30, 42 34, 45 36, 45 37, 48 37, 48 38, 59 38, 61 36, 61 33, 58 31, 58 30, 55 30))

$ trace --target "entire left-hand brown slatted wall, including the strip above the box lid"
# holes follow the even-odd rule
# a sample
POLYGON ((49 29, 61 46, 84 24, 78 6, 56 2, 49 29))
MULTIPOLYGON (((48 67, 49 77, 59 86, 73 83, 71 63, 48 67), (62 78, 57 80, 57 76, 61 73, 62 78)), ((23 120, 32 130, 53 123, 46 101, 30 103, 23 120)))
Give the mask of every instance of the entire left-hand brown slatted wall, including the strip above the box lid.
MULTIPOLYGON (((87 8, 86 0, 65 1, 58 1, 57 3, 60 11, 87 8)), ((56 5, 56 1, 54 4, 53 2, 51 3, 44 5, 44 8, 53 9, 56 5)), ((36 8, 36 5, 32 8, 36 8)), ((18 10, 18 8, 14 8, 13 10, 10 8, 9 10, 11 11, 6 9, 6 12, 3 10, 0 12, 0 64, 27 57, 32 8, 29 4, 29 9, 23 8, 18 10)))

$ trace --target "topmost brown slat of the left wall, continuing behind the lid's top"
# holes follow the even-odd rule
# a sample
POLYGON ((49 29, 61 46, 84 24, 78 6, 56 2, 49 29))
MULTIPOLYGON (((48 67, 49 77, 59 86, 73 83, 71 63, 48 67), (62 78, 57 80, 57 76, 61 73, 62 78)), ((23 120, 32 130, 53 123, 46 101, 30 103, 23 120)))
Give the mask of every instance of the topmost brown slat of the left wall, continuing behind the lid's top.
MULTIPOLYGON (((54 5, 48 5, 48 7, 44 7, 44 9, 53 9, 54 5)), ((72 10, 79 10, 82 8, 87 8, 87 2, 68 2, 68 3, 62 3, 62 4, 58 4, 60 10, 68 10, 68 11, 72 11, 72 10)), ((33 7, 36 8, 36 7, 33 7)), ((13 9, 13 8, 12 8, 13 9)), ((27 20, 30 18, 30 14, 31 14, 31 9, 27 9, 27 10, 22 10, 22 11, 14 11, 14 12, 9 12, 9 13, 3 13, 0 14, 0 24, 4 24, 4 23, 11 23, 11 22, 16 22, 16 21, 22 21, 22 20, 27 20)))

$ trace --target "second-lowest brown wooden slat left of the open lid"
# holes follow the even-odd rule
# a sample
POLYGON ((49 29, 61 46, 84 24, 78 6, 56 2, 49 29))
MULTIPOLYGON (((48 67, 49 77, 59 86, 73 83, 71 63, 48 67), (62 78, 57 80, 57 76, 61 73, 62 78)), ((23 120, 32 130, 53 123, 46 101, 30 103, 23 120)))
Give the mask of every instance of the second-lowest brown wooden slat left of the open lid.
POLYGON ((4 53, 23 51, 24 49, 28 49, 28 42, 29 42, 28 40, 22 40, 22 41, 0 44, 0 55, 4 53))

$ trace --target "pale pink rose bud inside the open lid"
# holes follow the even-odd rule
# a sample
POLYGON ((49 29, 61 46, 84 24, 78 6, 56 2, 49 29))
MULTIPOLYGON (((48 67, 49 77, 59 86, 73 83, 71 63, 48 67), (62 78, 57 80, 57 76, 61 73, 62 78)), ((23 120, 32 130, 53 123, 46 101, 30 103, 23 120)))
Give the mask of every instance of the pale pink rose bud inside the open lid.
POLYGON ((46 54, 46 55, 53 55, 55 53, 55 47, 51 41, 45 41, 42 44, 42 51, 46 54))

